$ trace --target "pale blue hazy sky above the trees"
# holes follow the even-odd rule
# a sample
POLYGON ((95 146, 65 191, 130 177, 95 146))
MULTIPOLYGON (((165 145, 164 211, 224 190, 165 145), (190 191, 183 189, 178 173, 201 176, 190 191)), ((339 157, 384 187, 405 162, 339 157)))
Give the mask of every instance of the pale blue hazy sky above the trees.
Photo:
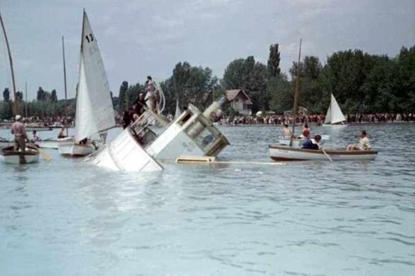
MULTIPOLYGON (((361 49, 394 57, 415 44, 414 0, 0 0, 14 60, 17 88, 28 100, 39 86, 64 98, 62 36, 68 97, 75 96, 83 8, 104 60, 111 90, 121 83, 157 81, 187 61, 218 78, 238 58, 267 63, 279 43, 280 67, 302 56, 361 49)), ((0 87, 12 87, 0 35, 0 87)), ((0 95, 2 96, 2 95, 0 95)))

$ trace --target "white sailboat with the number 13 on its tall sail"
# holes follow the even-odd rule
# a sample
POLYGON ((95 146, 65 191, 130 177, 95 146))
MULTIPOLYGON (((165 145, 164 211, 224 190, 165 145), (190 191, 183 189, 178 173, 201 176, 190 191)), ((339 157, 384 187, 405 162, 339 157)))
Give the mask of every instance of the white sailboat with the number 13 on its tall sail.
POLYGON ((104 63, 85 11, 83 11, 78 83, 75 141, 59 145, 61 154, 72 156, 92 153, 95 146, 90 142, 83 142, 91 135, 115 126, 114 109, 104 63))

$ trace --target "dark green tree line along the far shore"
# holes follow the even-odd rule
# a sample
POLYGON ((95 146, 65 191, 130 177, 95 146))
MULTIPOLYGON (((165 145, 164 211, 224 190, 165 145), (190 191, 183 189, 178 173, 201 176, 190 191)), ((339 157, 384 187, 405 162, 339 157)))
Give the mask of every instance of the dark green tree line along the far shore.
MULTIPOLYGON (((305 56, 300 64, 293 62, 288 74, 280 69, 278 44, 270 45, 267 64, 253 56, 231 61, 222 79, 208 67, 180 62, 172 75, 160 83, 166 96, 166 113, 174 114, 176 100, 180 106, 192 103, 201 110, 228 89, 243 89, 251 98, 251 110, 282 113, 292 109, 296 70, 300 71, 299 105, 311 113, 325 113, 330 94, 345 113, 414 112, 415 111, 415 45, 402 47, 396 57, 373 55, 361 50, 338 51, 322 64, 318 57, 305 56)), ((124 81, 119 95, 111 97, 114 109, 122 113, 144 93, 144 84, 124 81)), ((23 94, 17 93, 20 113, 25 114, 23 94)), ((10 91, 5 88, 0 102, 0 118, 13 116, 10 91)), ((75 115, 75 99, 58 100, 57 92, 39 87, 37 98, 27 103, 28 116, 75 115)), ((229 110, 228 110, 229 111, 229 110)), ((230 110, 231 111, 231 110, 230 110)))

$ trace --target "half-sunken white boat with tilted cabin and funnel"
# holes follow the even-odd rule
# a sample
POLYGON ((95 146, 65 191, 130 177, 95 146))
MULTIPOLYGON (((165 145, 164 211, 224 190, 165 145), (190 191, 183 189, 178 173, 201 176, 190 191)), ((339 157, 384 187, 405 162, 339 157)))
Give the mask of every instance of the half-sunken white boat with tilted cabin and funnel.
POLYGON ((189 104, 160 135, 150 128, 149 122, 156 116, 145 111, 92 162, 112 170, 155 171, 163 170, 159 161, 175 160, 181 155, 217 156, 229 145, 229 141, 208 118, 226 102, 228 99, 223 96, 204 113, 189 104))

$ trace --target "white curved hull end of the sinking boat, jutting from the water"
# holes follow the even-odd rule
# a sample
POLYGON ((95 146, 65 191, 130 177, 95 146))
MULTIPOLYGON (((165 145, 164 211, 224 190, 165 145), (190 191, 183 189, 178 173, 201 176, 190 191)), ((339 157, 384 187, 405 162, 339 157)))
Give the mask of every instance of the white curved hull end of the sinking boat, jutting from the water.
POLYGON ((97 154, 92 163, 110 170, 163 170, 163 167, 143 149, 130 131, 129 127, 125 128, 97 154))

